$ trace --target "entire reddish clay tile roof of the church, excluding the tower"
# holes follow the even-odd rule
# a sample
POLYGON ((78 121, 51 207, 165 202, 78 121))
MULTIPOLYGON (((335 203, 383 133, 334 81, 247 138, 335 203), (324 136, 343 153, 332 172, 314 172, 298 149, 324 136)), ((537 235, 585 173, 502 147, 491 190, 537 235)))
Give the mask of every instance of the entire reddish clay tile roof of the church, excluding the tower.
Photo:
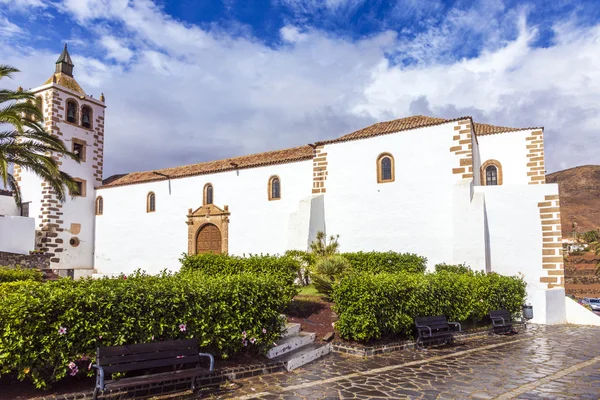
MULTIPOLYGON (((393 121, 378 122, 366 128, 341 136, 337 139, 317 142, 315 145, 346 142, 358 140, 373 136, 380 136, 394 132, 406 131, 410 129, 423 128, 427 126, 441 125, 448 122, 471 119, 471 117, 460 117, 453 119, 428 117, 425 115, 415 115, 412 117, 395 119, 393 121)), ((508 128, 488 124, 473 123, 476 136, 491 135, 503 132, 520 131, 526 129, 540 128, 508 128)), ((543 128, 542 128, 543 129, 543 128)), ((251 154, 247 156, 227 158, 224 160, 208 161, 199 164, 185 165, 182 167, 166 168, 155 171, 132 172, 129 174, 113 175, 105 179, 100 188, 115 186, 132 185, 136 183, 145 183, 152 181, 161 181, 166 178, 159 174, 164 174, 170 178, 183 178, 187 176, 204 175, 215 172, 232 171, 235 169, 260 167, 273 164, 284 164, 288 162, 309 160, 313 157, 313 148, 311 146, 300 146, 285 150, 269 151, 266 153, 251 154), (235 166, 234 166, 235 164, 235 166), (158 174, 157 174, 158 173, 158 174)))

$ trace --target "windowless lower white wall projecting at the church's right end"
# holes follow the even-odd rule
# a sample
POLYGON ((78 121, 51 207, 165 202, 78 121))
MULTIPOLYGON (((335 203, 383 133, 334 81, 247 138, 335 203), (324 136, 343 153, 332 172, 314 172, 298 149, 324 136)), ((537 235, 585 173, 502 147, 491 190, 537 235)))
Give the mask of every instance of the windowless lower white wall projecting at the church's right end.
POLYGON ((564 323, 564 289, 548 290, 540 283, 547 274, 542 268, 538 202, 546 195, 558 194, 558 185, 479 186, 475 191, 485 195, 491 270, 503 275, 524 274, 533 322, 564 323))

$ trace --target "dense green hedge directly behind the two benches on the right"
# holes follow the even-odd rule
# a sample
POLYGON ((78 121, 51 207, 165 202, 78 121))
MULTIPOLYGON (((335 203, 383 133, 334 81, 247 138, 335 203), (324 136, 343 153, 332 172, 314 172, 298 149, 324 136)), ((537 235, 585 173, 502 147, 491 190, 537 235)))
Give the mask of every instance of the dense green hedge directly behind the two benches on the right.
POLYGON ((361 342, 411 337, 417 316, 481 320, 494 309, 518 313, 524 298, 522 278, 494 273, 352 274, 334 288, 335 327, 342 338, 361 342))

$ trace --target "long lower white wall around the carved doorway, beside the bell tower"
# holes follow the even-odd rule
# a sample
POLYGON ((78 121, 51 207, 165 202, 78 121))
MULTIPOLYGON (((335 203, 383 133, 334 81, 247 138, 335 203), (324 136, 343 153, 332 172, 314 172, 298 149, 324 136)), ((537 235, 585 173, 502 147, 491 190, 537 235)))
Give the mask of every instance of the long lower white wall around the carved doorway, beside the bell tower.
MULTIPOLYGON (((312 160, 200 175, 168 181, 104 188, 104 215, 96 218, 95 268, 98 273, 150 273, 178 270, 187 252, 188 209, 202 206, 206 183, 214 188, 213 203, 229 206, 229 253, 283 253, 294 243, 305 243, 308 227, 290 224, 303 199, 311 197, 312 160), (281 200, 268 200, 268 181, 281 180, 281 200), (156 212, 146 212, 148 192, 156 194, 156 212), (290 239, 294 237, 295 239, 290 239)), ((303 212, 310 215, 309 210, 303 212)))

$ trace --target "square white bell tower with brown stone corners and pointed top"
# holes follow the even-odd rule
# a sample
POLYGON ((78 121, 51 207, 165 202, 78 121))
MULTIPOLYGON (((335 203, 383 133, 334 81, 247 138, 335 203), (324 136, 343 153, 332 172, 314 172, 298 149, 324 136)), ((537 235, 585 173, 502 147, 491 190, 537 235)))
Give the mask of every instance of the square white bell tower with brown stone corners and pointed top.
POLYGON ((56 61, 54 73, 31 89, 37 98, 47 132, 58 136, 78 155, 79 163, 52 154, 61 171, 77 181, 65 202, 43 179, 15 169, 23 203, 35 218, 36 249, 52 256, 51 268, 59 275, 88 276, 94 272, 96 187, 102 184, 104 162, 104 95, 87 95, 73 76, 75 65, 67 45, 56 61))

